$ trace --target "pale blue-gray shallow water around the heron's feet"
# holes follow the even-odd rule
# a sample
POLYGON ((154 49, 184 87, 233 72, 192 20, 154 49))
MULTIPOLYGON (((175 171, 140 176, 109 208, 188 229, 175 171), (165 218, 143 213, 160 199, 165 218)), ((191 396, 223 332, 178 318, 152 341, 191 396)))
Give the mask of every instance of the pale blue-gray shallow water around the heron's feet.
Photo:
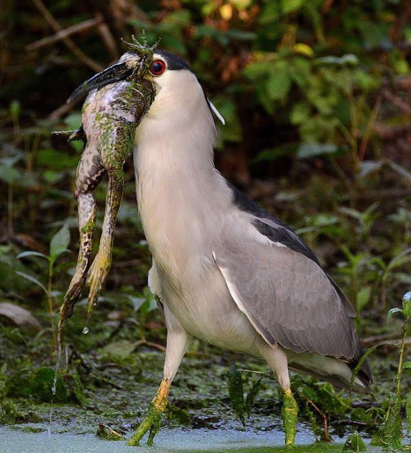
MULTIPOLYGON (((58 432, 24 432, 27 426, 42 427, 42 424, 15 428, 0 428, 0 451, 4 453, 163 453, 163 452, 241 452, 241 453, 275 453, 285 451, 281 448, 284 434, 281 431, 271 432, 233 432, 231 430, 169 430, 163 429, 155 437, 155 445, 140 448, 128 447, 125 441, 105 441, 95 434, 59 434, 58 432), (23 429, 22 429, 23 428, 23 429)), ((308 445, 313 438, 308 432, 297 433, 299 448, 297 452, 340 453, 343 444, 316 446, 308 445), (306 445, 304 445, 306 444, 306 445)), ((380 453, 382 449, 367 447, 369 453, 380 453)))

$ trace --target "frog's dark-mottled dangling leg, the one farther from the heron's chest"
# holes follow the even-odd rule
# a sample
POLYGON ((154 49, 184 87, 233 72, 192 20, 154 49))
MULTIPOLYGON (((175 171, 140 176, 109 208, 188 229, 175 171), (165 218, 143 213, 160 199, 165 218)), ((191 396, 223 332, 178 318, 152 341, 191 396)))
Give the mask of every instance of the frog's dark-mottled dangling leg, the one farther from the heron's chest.
POLYGON ((78 203, 79 255, 69 290, 66 292, 60 307, 59 332, 66 318, 69 318, 73 313, 74 305, 82 292, 84 283, 86 283, 96 223, 96 202, 92 190, 99 184, 104 174, 105 168, 99 153, 95 148, 86 146, 77 166, 74 191, 78 203))

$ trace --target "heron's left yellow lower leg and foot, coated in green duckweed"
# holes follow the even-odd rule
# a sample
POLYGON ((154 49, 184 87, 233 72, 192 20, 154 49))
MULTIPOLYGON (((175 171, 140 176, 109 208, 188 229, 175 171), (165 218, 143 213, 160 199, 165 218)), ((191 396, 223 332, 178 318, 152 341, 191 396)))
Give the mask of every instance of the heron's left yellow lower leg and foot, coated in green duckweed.
POLYGON ((153 401, 149 404, 149 410, 147 410, 147 414, 145 415, 144 419, 142 419, 140 426, 138 426, 138 428, 136 429, 136 432, 134 432, 132 437, 127 442, 127 445, 140 445, 140 440, 147 431, 150 431, 147 445, 153 445, 154 436, 160 430, 162 413, 167 406, 170 384, 171 382, 169 382, 168 380, 162 380, 157 394, 155 395, 153 401))

